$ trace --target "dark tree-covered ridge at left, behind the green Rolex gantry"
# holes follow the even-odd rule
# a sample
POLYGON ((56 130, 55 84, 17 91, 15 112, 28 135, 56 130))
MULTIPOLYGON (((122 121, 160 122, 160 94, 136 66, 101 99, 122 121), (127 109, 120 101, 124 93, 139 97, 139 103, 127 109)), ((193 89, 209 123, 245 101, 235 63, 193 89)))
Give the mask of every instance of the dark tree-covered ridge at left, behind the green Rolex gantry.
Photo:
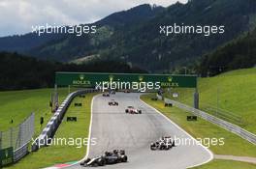
POLYGON ((90 65, 62 64, 40 61, 17 53, 0 52, 1 91, 53 87, 55 71, 145 72, 115 61, 101 61, 90 65))

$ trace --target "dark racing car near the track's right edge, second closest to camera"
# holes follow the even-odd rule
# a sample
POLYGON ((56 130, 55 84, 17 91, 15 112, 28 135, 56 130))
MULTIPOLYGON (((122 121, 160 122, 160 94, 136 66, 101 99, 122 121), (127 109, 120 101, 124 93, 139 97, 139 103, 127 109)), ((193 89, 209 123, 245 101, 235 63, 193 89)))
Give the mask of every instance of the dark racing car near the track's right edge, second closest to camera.
POLYGON ((150 144, 151 151, 155 150, 170 150, 175 147, 175 140, 171 136, 161 137, 158 141, 150 144))

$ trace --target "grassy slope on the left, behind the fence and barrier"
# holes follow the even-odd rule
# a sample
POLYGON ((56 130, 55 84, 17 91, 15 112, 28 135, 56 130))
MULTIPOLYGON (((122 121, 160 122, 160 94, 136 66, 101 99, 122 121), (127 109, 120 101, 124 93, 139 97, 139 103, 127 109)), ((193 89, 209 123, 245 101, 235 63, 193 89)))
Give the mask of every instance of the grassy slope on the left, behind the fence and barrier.
MULTIPOLYGON (((16 127, 32 112, 36 113, 36 132, 40 131, 40 117, 48 122, 52 115, 49 107, 50 93, 53 89, 0 92, 0 130, 16 127), (13 119, 14 124, 11 124, 13 119)), ((59 89, 59 100, 68 95, 68 89, 59 89)), ((45 124, 46 125, 46 124, 45 124)))

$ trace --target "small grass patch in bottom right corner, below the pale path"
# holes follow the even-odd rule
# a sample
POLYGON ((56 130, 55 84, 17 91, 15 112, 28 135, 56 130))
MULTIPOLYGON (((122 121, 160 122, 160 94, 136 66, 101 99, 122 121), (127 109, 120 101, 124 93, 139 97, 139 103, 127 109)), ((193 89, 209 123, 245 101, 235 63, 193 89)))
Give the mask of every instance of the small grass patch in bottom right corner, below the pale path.
POLYGON ((208 164, 195 167, 194 169, 255 169, 256 165, 233 160, 214 159, 208 164))

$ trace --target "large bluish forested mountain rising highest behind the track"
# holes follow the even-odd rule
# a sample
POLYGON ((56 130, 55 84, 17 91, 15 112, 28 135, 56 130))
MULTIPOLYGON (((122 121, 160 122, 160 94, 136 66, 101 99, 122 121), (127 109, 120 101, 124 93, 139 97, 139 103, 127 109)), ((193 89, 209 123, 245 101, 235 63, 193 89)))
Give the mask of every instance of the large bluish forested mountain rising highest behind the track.
MULTIPOLYGON (((170 70, 189 65, 215 47, 239 37, 255 26, 255 18, 254 0, 190 0, 187 4, 176 3, 167 9, 143 5, 99 20, 95 23, 98 28, 95 35, 61 36, 38 43, 25 53, 64 62, 97 56, 96 60, 121 60, 146 70, 170 70), (159 34, 160 25, 175 23, 224 25, 225 34, 209 37, 203 34, 169 37, 159 34)), ((0 44, 5 41, 0 39, 0 44)))

